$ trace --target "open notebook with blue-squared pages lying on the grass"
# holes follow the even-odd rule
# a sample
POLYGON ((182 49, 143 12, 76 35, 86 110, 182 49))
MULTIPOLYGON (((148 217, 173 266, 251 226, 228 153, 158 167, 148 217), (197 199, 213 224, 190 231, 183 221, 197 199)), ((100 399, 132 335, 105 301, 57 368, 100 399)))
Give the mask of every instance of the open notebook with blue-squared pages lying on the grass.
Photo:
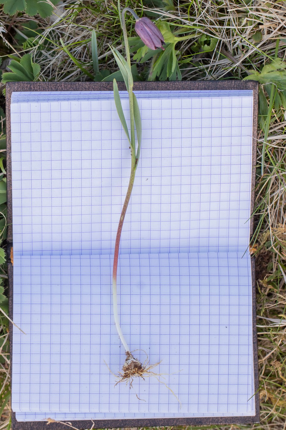
POLYGON ((113 92, 19 85, 9 87, 13 321, 25 333, 13 328, 16 420, 255 421, 256 87, 136 92, 143 139, 120 245, 120 319, 134 356, 161 361, 154 372, 179 403, 155 377, 115 387, 107 367, 116 374, 125 360, 111 276, 131 161, 113 92))

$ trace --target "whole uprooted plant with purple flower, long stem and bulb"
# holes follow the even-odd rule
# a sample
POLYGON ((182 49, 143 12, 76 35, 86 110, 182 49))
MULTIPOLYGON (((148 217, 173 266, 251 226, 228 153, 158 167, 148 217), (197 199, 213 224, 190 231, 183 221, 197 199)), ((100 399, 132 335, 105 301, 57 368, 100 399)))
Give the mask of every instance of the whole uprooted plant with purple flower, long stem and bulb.
MULTIPOLYGON (((146 18, 146 17, 139 18, 132 9, 126 7, 125 9, 122 10, 122 31, 123 31, 123 37, 124 37, 124 43, 125 43, 126 60, 119 53, 117 49, 110 46, 113 52, 114 58, 116 59, 119 69, 122 73, 126 89, 128 91, 129 111, 130 111, 130 133, 129 133, 127 122, 122 109, 118 86, 117 86, 116 80, 114 79, 113 80, 114 101, 116 104, 118 116, 122 123, 122 127, 125 131, 125 134, 128 139, 129 147, 130 147, 131 172, 130 172, 130 180, 129 180, 125 201, 124 201, 122 212, 119 219, 119 225, 118 225, 116 241, 115 241, 114 260, 113 260, 113 313, 114 313, 116 329, 119 334, 119 338, 122 342, 122 345, 125 348, 125 353, 126 353, 126 360, 122 367, 122 372, 119 372, 120 381, 118 382, 130 381, 130 386, 132 386, 133 378, 136 376, 140 376, 144 378, 144 376, 155 375, 155 373, 151 372, 151 369, 155 367, 155 365, 157 365, 158 363, 156 363, 155 365, 149 365, 148 362, 147 364, 146 362, 141 364, 141 362, 138 359, 134 358, 134 356, 131 353, 130 347, 128 346, 124 338, 122 329, 120 327, 118 304, 117 304, 117 267, 118 267, 120 237, 121 237, 124 218, 128 208, 128 203, 131 197, 131 192, 132 192, 134 178, 135 178, 135 172, 139 162, 140 148, 141 148, 141 135, 142 135, 140 109, 139 109, 136 96, 134 95, 134 92, 133 92, 133 78, 131 73, 130 52, 129 52, 128 35, 127 35, 126 23, 125 23, 126 12, 130 12, 134 16, 136 20, 135 31, 143 40, 143 42, 146 44, 146 46, 148 46, 150 49, 157 49, 157 48, 163 49, 162 43, 164 42, 164 38, 161 32, 158 30, 155 24, 152 21, 150 21, 149 18, 146 18), (137 132, 137 139, 135 139, 135 127, 137 132)), ((119 8, 119 13, 120 13, 120 8, 119 8)))

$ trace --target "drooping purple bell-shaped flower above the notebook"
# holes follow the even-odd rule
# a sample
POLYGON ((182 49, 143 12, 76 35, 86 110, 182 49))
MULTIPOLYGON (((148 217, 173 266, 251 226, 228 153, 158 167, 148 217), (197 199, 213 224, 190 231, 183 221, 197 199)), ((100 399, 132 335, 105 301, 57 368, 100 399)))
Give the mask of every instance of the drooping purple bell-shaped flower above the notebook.
POLYGON ((164 37, 160 30, 155 26, 146 16, 138 18, 135 22, 135 31, 140 37, 140 39, 145 43, 150 49, 163 48, 162 43, 164 42, 164 37))

